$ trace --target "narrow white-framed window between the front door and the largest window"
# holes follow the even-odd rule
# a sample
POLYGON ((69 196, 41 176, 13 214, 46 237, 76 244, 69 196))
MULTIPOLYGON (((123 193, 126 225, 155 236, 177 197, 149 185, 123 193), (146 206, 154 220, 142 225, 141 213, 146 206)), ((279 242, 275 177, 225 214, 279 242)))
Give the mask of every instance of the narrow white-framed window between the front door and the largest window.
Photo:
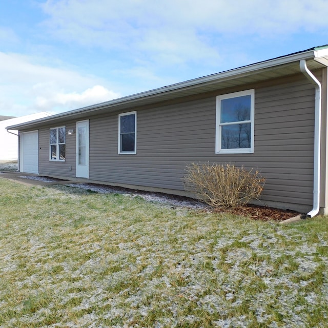
POLYGON ((136 154, 137 112, 118 115, 118 153, 136 154))

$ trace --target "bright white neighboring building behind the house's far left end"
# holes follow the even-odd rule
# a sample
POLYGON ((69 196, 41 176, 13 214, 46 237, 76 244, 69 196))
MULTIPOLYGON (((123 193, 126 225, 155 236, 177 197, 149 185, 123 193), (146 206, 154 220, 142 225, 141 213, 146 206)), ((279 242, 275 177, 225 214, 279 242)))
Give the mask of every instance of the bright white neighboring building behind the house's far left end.
POLYGON ((7 131, 6 127, 9 125, 16 125, 50 115, 51 114, 47 112, 40 112, 20 117, 0 116, 0 160, 9 161, 18 159, 17 134, 14 131, 7 131))

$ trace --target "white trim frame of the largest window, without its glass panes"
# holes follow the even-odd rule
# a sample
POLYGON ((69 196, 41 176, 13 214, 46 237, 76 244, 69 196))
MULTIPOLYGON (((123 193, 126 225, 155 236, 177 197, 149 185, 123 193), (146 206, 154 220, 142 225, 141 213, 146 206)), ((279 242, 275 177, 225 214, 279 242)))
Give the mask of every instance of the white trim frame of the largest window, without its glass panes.
MULTIPOLYGON (((215 120, 215 153, 216 154, 252 154, 254 153, 254 104, 255 104, 255 90, 244 90, 223 94, 216 97, 216 120, 215 120), (240 123, 251 123, 251 148, 221 148, 221 127, 224 125, 236 124, 236 122, 229 122, 229 124, 221 124, 221 100, 235 98, 240 96, 251 96, 251 119, 247 121, 239 121, 240 123)), ((239 123, 239 124, 240 124, 239 123)))

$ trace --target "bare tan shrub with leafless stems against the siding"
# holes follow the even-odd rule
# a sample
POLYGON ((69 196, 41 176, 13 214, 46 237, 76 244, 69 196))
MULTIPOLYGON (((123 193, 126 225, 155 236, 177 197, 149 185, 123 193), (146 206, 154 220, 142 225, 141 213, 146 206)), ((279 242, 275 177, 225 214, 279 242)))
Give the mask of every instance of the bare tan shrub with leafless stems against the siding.
POLYGON ((235 207, 258 199, 265 182, 258 171, 231 164, 191 163, 186 171, 185 189, 214 207, 235 207))

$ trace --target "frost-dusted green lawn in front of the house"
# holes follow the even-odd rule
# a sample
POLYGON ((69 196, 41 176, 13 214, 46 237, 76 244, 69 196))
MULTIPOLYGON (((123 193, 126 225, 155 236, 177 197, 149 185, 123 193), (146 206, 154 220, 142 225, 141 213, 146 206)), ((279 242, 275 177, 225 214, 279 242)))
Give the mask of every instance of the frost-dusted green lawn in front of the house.
POLYGON ((0 327, 327 327, 328 219, 0 179, 0 327))

